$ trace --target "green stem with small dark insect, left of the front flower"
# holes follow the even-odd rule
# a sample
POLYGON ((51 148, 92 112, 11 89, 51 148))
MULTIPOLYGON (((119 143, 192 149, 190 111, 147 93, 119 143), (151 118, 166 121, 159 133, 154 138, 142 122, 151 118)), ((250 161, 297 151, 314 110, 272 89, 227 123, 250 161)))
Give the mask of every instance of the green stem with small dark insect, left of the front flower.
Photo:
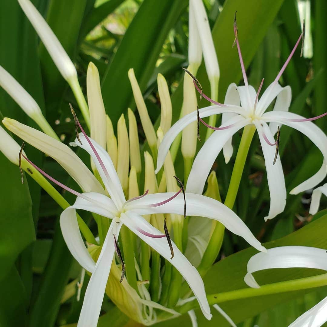
MULTIPOLYGON (((22 160, 22 168, 29 174, 49 195, 53 198, 62 209, 66 209, 70 204, 60 195, 60 193, 26 160, 22 160), (28 170, 27 170, 28 168, 28 170)), ((97 244, 94 235, 90 231, 85 221, 77 214, 78 227, 85 237, 85 240, 92 244, 97 244)))

